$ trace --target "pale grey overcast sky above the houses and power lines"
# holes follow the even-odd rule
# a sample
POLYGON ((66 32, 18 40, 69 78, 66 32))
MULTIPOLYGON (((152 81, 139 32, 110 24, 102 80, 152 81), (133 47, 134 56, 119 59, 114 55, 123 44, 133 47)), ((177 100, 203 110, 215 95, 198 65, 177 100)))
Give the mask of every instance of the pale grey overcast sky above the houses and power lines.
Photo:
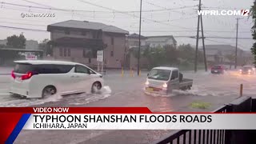
MULTIPOLYGON (((102 22, 128 30, 130 34, 138 33, 140 0, 0 0, 0 2, 10 3, 0 3, 0 26, 46 30, 46 26, 54 22, 74 19, 102 22), (17 6, 17 4, 22 6, 17 6), (50 10, 50 7, 74 11, 50 10), (21 18, 22 13, 54 13, 55 17, 21 18)), ((197 5, 198 0, 142 0, 142 10, 144 11, 142 13, 142 35, 174 35, 178 44, 190 43, 195 45, 195 39, 178 36, 196 35, 197 5)), ((202 0, 204 10, 242 10, 250 9, 251 5, 253 5, 253 0, 202 0)), ((206 37, 235 38, 236 18, 238 16, 209 15, 202 18, 206 37)), ((238 37, 251 38, 252 20, 242 16, 239 18, 242 19, 239 20, 238 37)), ((0 27, 0 30, 1 39, 21 33, 27 39, 34 39, 39 42, 45 38, 50 38, 50 33, 43 31, 13 30, 3 27, 0 27)), ((250 50, 253 42, 250 39, 239 39, 238 46, 243 50, 250 50)), ((235 46, 235 39, 207 38, 206 45, 209 44, 235 46)), ((199 41, 199 45, 202 46, 202 41, 199 41)))

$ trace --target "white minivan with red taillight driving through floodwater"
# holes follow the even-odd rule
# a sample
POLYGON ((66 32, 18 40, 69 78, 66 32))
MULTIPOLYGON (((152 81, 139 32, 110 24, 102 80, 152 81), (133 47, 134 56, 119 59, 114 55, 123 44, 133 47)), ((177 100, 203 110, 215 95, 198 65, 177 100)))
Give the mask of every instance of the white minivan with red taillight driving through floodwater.
POLYGON ((75 62, 15 61, 10 93, 26 98, 45 98, 53 94, 95 93, 103 86, 102 74, 75 62))

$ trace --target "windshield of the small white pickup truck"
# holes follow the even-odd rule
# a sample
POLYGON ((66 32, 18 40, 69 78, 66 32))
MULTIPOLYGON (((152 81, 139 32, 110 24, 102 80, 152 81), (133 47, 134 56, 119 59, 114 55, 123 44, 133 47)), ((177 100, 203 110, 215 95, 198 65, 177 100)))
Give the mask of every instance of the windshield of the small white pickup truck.
POLYGON ((160 81, 168 81, 170 78, 170 72, 170 70, 153 69, 150 71, 148 78, 160 81))

